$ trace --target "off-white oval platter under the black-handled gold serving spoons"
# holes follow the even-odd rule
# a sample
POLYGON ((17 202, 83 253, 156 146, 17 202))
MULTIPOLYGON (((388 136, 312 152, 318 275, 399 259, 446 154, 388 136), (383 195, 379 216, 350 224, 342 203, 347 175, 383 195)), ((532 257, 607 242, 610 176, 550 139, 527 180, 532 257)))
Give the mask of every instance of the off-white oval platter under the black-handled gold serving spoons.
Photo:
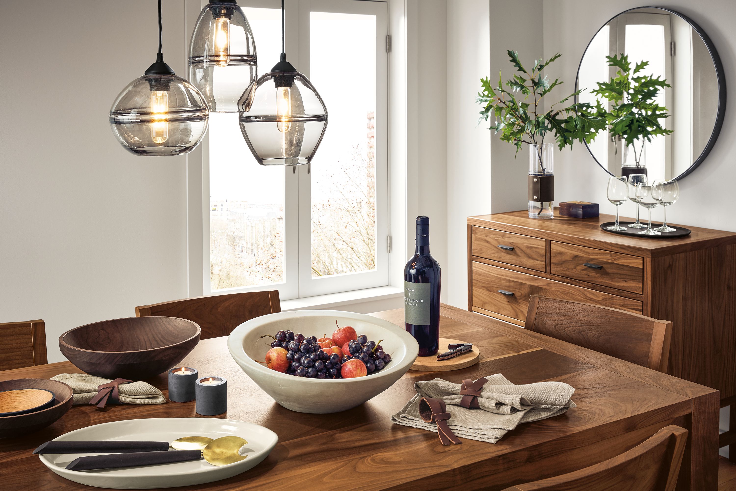
MULTIPOLYGON (((126 467, 110 470, 66 470, 64 467, 85 454, 49 453, 40 455, 41 462, 59 476, 87 484, 118 490, 141 490, 156 487, 191 486, 236 476, 255 467, 275 447, 277 435, 260 425, 235 420, 219 420, 209 417, 149 418, 125 420, 88 426, 70 431, 54 441, 73 442, 79 440, 149 440, 172 442, 181 437, 219 438, 234 435, 247 440, 241 453, 247 459, 234 464, 216 467, 204 459, 190 462, 126 467)), ((89 453, 86 455, 99 455, 89 453)))

